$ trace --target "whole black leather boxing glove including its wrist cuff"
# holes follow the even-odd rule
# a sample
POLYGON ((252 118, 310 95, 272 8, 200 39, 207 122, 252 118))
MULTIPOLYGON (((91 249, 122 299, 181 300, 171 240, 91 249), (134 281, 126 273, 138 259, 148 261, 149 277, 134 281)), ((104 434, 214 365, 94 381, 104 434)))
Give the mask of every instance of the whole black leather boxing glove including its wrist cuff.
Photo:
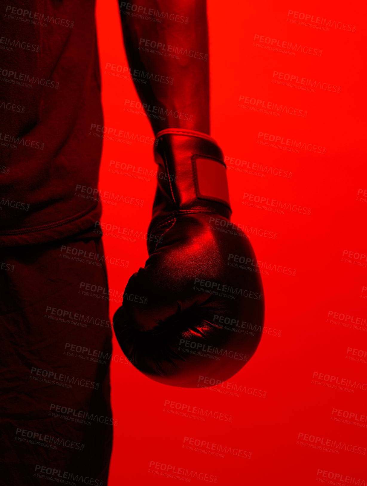
POLYGON ((155 160, 149 258, 127 283, 113 319, 116 337, 132 364, 157 382, 223 382, 261 338, 262 281, 248 266, 254 251, 229 221, 226 166, 211 137, 162 130, 155 160))

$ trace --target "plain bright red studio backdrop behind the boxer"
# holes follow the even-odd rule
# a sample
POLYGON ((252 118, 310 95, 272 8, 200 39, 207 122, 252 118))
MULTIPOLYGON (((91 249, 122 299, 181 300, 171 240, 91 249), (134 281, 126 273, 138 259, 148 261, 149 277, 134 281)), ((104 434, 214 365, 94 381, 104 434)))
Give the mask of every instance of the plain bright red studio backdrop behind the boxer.
MULTIPOLYGON (((114 339, 108 485, 366 485, 362 2, 208 3, 211 135, 226 157, 231 219, 261 261, 264 332, 240 372, 196 389, 149 380, 114 339)), ((148 118, 131 107, 117 2, 98 0, 96 17, 99 187, 133 201, 104 203, 112 319, 147 258, 156 167, 148 118)))

